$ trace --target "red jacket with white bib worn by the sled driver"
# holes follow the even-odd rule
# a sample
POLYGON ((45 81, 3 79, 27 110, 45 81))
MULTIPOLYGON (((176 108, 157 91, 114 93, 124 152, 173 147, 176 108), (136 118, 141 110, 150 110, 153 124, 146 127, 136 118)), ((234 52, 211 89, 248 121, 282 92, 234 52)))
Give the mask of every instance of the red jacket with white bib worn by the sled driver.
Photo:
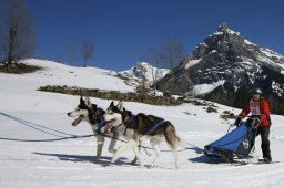
POLYGON ((266 100, 261 98, 258 102, 253 102, 251 100, 241 112, 241 116, 245 117, 250 113, 252 113, 252 117, 258 117, 261 119, 261 127, 271 126, 271 111, 266 100))

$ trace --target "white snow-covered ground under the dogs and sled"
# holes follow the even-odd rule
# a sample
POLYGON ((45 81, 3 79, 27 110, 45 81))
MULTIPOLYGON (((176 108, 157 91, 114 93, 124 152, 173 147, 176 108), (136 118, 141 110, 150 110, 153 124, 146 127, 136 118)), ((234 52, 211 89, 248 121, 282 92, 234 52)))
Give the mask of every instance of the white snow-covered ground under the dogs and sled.
MULTIPOLYGON (((122 154, 111 164, 105 142, 103 158, 93 163, 97 143, 94 137, 54 142, 23 142, 60 139, 71 135, 92 134, 87 123, 72 127, 67 113, 79 103, 79 96, 39 92, 39 86, 60 84, 102 90, 133 91, 123 81, 98 69, 72 67, 54 62, 29 60, 45 69, 33 74, 12 75, 0 73, 0 187, 283 187, 283 163, 270 165, 214 164, 199 148, 224 135, 229 124, 220 118, 224 111, 235 114, 240 109, 217 105, 219 113, 206 113, 203 106, 183 104, 175 107, 152 106, 125 102, 133 113, 143 112, 169 119, 180 137, 189 145, 179 152, 179 169, 173 156, 161 145, 161 163, 148 168, 154 158, 142 152, 144 168, 132 166, 132 150, 122 154), (6 116, 10 115, 11 118, 6 116), (23 122, 26 121, 26 122, 23 122), (38 128, 38 129, 36 129, 38 128), (61 132, 61 133, 60 133, 61 132), (22 142, 7 140, 21 139, 22 142)), ((110 101, 91 98, 92 103, 106 108, 110 101)), ((283 116, 272 115, 271 149, 273 160, 283 161, 283 116)), ((256 153, 261 157, 260 137, 256 153)), ((118 143, 121 146, 122 143, 118 143)), ((150 146, 146 144, 146 146, 150 146)))

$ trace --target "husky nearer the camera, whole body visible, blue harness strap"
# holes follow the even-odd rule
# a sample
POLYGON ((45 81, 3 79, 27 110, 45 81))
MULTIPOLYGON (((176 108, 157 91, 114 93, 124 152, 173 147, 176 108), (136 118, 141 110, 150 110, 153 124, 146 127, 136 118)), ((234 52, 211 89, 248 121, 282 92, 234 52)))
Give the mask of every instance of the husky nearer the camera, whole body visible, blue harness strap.
POLYGON ((138 146, 139 142, 150 139, 156 153, 156 157, 151 164, 151 167, 154 167, 160 159, 160 143, 165 139, 173 152, 175 168, 178 168, 178 146, 185 145, 185 142, 176 135, 174 126, 169 121, 143 113, 133 115, 123 107, 122 102, 119 102, 116 106, 113 102, 110 104, 104 114, 104 121, 108 127, 115 127, 128 140, 125 145, 121 146, 114 153, 111 160, 112 163, 118 159, 123 150, 132 147, 140 163, 140 167, 143 167, 138 146))

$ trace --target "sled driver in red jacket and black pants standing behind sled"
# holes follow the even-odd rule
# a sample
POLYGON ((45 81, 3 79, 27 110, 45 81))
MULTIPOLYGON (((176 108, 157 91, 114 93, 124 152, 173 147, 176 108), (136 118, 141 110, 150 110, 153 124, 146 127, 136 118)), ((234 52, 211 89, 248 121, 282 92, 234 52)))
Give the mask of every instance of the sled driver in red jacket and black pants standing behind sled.
POLYGON ((252 114, 252 117, 257 117, 261 121, 256 135, 261 134, 262 137, 263 159, 264 161, 270 163, 272 160, 268 139, 271 127, 271 112, 268 102, 262 98, 262 91, 260 88, 254 90, 252 100, 236 117, 235 125, 239 125, 242 118, 244 118, 250 113, 252 114))

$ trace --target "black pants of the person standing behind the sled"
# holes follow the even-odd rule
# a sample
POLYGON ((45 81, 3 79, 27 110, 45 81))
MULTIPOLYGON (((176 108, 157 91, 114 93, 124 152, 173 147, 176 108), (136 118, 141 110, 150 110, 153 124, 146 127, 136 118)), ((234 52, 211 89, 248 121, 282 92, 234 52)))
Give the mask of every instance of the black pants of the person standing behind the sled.
POLYGON ((270 126, 267 127, 258 127, 256 136, 261 135, 262 137, 262 154, 263 158, 267 158, 271 160, 271 143, 270 143, 270 126))

